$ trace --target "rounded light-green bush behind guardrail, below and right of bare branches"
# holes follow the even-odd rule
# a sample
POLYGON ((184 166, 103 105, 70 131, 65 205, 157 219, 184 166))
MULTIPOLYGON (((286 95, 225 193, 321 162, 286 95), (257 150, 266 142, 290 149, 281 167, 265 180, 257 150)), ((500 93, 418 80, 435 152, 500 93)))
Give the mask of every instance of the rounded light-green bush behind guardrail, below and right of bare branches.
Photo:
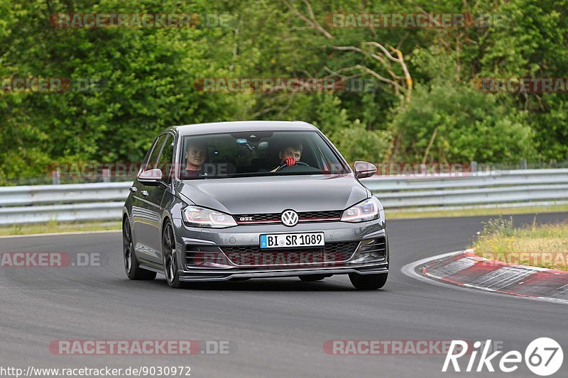
POLYGON ((472 86, 432 81, 395 111, 397 157, 426 162, 516 162, 531 157, 532 130, 524 111, 499 104, 472 86), (430 145, 430 148, 428 146, 430 145))

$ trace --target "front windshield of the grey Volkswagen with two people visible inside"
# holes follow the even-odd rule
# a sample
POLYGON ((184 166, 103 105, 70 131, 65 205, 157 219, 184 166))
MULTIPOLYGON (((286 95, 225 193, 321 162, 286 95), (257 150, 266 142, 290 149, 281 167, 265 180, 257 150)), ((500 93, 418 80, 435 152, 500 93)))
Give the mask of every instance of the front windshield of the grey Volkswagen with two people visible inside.
POLYGON ((180 179, 346 174, 315 131, 248 131, 183 138, 180 179))

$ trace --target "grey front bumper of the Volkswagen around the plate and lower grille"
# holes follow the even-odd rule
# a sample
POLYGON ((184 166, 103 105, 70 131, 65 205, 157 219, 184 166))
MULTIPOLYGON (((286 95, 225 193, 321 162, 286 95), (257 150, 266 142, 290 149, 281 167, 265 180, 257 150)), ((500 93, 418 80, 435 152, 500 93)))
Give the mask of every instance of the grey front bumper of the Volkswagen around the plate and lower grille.
MULTIPOLYGON (((305 274, 385 274, 388 273, 388 237, 384 225, 379 221, 346 223, 341 221, 314 222, 286 227, 282 224, 235 226, 231 228, 189 227, 181 219, 174 219, 175 237, 178 245, 178 273, 180 281, 226 281, 268 277, 294 277, 305 274), (239 265, 227 257, 227 248, 250 247, 260 244, 260 235, 266 233, 307 233, 321 231, 326 245, 343 243, 356 245, 349 251, 348 258, 320 262, 296 262, 281 264, 239 265), (362 245, 366 240, 384 240, 384 256, 369 256, 362 245), (211 250, 219 248, 220 262, 206 262, 202 265, 187 264, 187 250, 192 246, 205 246, 211 250)), ((278 252, 262 250, 258 253, 278 252)), ((297 252, 302 252, 298 249, 297 252)), ((205 252, 207 254, 207 252, 205 252)), ((234 255, 233 255, 234 256, 234 255)), ((207 259, 204 259, 207 261, 207 259)))

